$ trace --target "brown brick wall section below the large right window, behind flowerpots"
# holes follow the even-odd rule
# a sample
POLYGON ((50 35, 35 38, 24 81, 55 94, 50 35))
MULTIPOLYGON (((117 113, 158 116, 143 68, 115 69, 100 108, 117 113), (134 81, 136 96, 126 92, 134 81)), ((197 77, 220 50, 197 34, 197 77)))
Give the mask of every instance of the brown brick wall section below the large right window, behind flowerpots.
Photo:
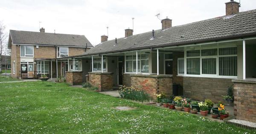
POLYGON ((227 94, 227 87, 233 85, 231 79, 184 77, 184 96, 194 100, 210 99, 215 103, 222 101, 221 95, 227 94))

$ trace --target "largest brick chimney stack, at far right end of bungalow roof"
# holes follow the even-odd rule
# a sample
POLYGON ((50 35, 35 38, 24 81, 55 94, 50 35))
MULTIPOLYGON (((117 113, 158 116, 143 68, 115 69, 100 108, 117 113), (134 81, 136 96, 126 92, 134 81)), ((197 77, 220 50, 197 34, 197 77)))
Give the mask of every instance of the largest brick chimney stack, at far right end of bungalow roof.
POLYGON ((226 4, 226 15, 233 15, 239 13, 239 7, 240 3, 230 0, 230 2, 225 3, 226 4))

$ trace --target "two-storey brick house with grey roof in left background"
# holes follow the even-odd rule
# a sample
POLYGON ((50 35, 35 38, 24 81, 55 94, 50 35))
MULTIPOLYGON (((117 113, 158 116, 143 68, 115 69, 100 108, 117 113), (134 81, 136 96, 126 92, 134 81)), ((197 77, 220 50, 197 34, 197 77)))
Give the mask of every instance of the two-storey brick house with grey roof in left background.
MULTIPOLYGON (((84 54, 93 48, 84 35, 46 33, 44 28, 40 32, 10 30, 8 47, 11 48, 12 77, 22 79, 40 77, 41 74, 64 76, 68 71, 67 62, 57 62, 57 69, 56 62, 51 64, 49 60, 37 60, 84 54), (51 66, 55 69, 50 70, 51 66)), ((80 60, 75 62, 76 66, 81 65, 80 60)), ((72 64, 70 70, 73 70, 72 64)))

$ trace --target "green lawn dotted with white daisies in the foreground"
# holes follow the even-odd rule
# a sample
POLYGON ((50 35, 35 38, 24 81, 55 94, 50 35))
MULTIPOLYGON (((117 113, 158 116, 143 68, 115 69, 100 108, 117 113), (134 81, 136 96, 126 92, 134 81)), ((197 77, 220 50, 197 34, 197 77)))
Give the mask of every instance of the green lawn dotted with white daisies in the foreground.
POLYGON ((192 114, 41 81, 0 83, 0 115, 0 133, 254 133, 192 114), (116 106, 136 109, 118 111, 116 106))

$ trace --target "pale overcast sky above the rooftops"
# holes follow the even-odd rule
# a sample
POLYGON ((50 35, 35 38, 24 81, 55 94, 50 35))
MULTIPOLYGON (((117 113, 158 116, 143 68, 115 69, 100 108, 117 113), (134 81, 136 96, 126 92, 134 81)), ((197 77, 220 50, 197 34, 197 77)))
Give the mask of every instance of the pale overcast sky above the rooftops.
MULTIPOLYGON (((95 46, 100 36, 113 40, 124 37, 125 29, 134 34, 161 29, 160 19, 172 19, 172 26, 225 15, 230 0, 1 0, 0 21, 6 30, 81 34, 95 46)), ((239 0, 235 0, 239 2, 239 0)), ((241 0, 240 11, 256 9, 256 0, 241 0)))

